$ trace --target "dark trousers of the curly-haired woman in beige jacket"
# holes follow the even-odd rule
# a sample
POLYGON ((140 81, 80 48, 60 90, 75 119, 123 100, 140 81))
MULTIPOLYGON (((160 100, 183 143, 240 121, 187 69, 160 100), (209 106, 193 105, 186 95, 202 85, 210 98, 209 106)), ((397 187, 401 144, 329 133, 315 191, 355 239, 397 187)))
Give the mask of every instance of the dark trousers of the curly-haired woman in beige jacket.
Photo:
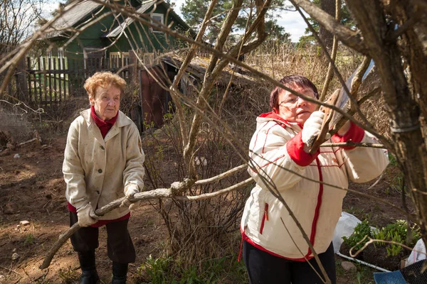
MULTIPOLYGON (((78 222, 77 214, 70 212, 70 226, 78 222)), ((105 224, 107 227, 107 253, 108 257, 118 263, 135 262, 135 248, 127 231, 129 219, 105 224)), ((99 246, 99 229, 93 226, 80 228, 71 237, 71 244, 75 251, 87 253, 95 251, 99 246)))

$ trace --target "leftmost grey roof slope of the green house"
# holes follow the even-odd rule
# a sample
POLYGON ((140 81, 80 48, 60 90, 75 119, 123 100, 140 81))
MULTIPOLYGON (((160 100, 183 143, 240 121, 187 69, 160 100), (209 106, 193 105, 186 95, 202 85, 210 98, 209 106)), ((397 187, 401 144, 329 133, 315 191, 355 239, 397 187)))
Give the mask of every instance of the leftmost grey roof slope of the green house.
POLYGON ((55 38, 63 34, 64 28, 75 26, 76 23, 86 18, 90 13, 93 13, 95 9, 102 6, 102 4, 96 3, 91 0, 83 0, 78 4, 65 6, 63 15, 58 18, 53 24, 52 28, 59 30, 48 33, 47 38, 55 38))

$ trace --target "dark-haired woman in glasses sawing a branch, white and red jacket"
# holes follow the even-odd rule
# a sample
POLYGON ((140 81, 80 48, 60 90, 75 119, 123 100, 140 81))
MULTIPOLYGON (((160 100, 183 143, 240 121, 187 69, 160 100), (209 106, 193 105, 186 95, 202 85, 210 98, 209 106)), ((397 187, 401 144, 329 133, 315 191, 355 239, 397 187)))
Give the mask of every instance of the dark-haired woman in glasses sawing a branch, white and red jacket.
MULTIPOLYGON (((295 92, 318 98, 317 88, 305 77, 291 75, 280 82, 295 92)), ((388 164, 386 151, 322 147, 310 155, 305 149, 308 141, 320 133, 324 116, 321 111, 315 111, 316 104, 276 87, 270 96, 270 107, 271 112, 258 116, 249 146, 255 165, 249 173, 256 185, 246 202, 241 232, 243 260, 250 283, 324 281, 290 212, 268 187, 280 192, 318 253, 328 277, 335 283, 332 236, 346 192, 327 184, 348 187, 348 180, 367 182, 376 178, 388 164)), ((350 122, 332 136, 334 142, 350 140, 376 141, 370 133, 350 122)))

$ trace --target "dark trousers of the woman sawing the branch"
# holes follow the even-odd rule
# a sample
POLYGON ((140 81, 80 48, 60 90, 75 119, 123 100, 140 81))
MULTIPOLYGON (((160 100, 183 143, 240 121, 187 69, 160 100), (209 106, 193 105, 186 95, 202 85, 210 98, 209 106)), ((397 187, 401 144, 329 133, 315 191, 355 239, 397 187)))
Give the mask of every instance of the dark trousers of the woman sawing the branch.
MULTIPOLYGON (((332 281, 336 282, 334 247, 332 243, 325 253, 319 254, 320 262, 332 281)), ((255 248, 248 242, 243 242, 243 261, 248 270, 251 284, 315 284, 324 283, 323 276, 313 271, 309 263, 322 275, 315 258, 310 261, 290 261, 286 258, 273 256, 270 253, 255 248)))

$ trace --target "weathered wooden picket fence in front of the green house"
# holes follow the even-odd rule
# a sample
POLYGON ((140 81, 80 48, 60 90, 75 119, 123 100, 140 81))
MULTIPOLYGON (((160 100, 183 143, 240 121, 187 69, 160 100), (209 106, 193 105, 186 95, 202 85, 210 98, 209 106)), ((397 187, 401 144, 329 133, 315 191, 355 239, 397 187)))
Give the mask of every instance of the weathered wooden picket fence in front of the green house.
POLYGON ((86 96, 83 84, 98 71, 118 72, 129 82, 132 78, 129 58, 26 58, 16 75, 18 99, 34 107, 54 107, 70 97, 86 96))

